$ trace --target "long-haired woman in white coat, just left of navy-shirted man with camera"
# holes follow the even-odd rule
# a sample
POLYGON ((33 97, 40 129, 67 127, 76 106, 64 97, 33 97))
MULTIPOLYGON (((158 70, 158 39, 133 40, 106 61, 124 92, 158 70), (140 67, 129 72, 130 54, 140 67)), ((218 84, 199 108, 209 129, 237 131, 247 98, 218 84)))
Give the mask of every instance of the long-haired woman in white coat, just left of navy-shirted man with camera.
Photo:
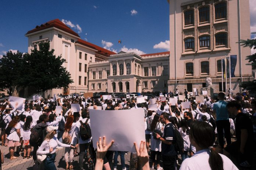
POLYGON ((153 121, 150 125, 151 129, 151 148, 150 148, 150 161, 152 162, 152 169, 154 165, 157 166, 157 170, 160 170, 160 156, 161 156, 161 141, 154 138, 155 133, 163 132, 163 124, 160 122, 160 115, 154 115, 153 121), (156 159, 155 159, 156 157, 156 159))

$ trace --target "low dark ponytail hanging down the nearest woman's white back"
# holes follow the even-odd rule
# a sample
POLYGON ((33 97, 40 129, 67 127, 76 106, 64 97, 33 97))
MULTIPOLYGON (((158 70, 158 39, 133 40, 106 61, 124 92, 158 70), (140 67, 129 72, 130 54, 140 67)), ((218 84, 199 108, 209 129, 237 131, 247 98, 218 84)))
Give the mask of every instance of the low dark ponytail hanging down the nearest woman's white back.
POLYGON ((209 165, 211 170, 224 170, 223 169, 223 160, 213 147, 209 147, 210 149, 210 156, 209 156, 209 165))

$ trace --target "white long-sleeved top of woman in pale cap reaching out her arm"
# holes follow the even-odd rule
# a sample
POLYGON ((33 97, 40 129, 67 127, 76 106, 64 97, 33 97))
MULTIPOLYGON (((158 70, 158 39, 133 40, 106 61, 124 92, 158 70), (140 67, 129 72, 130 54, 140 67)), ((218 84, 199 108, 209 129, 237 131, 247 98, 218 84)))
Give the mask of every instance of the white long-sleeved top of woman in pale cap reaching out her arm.
POLYGON ((54 135, 54 137, 48 142, 46 140, 43 141, 42 145, 39 147, 37 154, 54 154, 56 152, 56 147, 60 146, 60 147, 70 147, 70 145, 67 144, 63 144, 60 141, 58 141, 56 135, 54 135), (50 153, 50 147, 53 148, 53 151, 50 153))

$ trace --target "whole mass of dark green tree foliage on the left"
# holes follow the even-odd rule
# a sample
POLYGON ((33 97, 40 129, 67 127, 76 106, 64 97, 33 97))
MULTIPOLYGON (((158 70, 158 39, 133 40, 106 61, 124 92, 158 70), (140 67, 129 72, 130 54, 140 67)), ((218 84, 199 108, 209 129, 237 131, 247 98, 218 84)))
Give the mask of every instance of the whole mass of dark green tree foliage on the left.
POLYGON ((44 42, 39 44, 39 50, 34 49, 31 54, 7 52, 0 59, 0 72, 4 74, 0 76, 0 88, 7 89, 11 94, 13 86, 33 86, 38 92, 68 87, 73 81, 70 73, 62 66, 65 59, 56 57, 54 49, 49 49, 49 42, 44 42))

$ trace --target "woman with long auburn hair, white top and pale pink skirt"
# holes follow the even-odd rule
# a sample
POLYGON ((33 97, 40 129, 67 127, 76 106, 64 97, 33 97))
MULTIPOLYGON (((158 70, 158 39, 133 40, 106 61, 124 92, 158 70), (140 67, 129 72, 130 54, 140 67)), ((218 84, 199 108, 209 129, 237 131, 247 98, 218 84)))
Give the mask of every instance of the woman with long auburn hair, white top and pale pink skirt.
POLYGON ((8 127, 11 127, 11 132, 7 135, 6 144, 9 148, 9 152, 11 155, 11 160, 16 159, 18 157, 14 156, 14 149, 21 145, 19 142, 19 137, 21 136, 21 125, 19 124, 19 116, 15 116, 14 119, 9 123, 8 127))

